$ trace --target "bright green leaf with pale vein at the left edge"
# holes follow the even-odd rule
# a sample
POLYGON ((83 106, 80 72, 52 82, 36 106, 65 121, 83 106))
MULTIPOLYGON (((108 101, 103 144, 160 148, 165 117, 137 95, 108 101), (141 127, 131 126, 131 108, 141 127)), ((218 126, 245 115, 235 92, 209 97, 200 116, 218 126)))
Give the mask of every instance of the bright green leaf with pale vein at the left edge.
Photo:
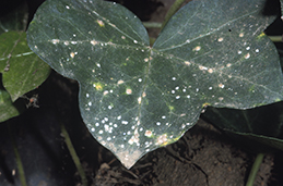
POLYGON ((0 73, 12 101, 35 89, 49 75, 50 67, 27 46, 24 32, 0 35, 0 73))

